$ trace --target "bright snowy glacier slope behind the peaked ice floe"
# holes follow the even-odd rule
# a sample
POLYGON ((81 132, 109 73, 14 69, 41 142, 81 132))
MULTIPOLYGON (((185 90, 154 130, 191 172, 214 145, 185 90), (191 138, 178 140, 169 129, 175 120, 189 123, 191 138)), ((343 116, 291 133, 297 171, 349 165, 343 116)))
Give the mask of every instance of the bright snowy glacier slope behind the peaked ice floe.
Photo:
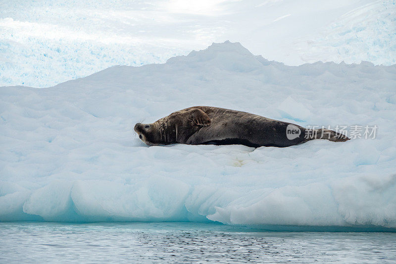
POLYGON ((49 87, 225 40, 287 65, 392 65, 396 0, 0 1, 0 86, 49 87))

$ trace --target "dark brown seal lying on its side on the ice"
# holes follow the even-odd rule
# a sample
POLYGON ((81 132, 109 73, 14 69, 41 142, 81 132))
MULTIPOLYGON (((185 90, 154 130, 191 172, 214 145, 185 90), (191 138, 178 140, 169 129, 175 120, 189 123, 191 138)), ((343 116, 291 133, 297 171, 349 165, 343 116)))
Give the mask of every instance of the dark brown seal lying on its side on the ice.
POLYGON ((139 138, 148 146, 175 143, 289 147, 312 139, 347 141, 329 129, 306 129, 260 115, 212 106, 193 106, 171 113, 154 123, 137 123, 139 138))

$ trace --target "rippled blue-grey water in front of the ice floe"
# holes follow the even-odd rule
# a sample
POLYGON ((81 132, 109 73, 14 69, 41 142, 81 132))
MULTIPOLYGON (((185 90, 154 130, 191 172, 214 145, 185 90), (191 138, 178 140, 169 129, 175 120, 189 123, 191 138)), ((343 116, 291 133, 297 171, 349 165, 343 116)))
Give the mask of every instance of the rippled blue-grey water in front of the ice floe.
POLYGON ((394 263, 396 233, 204 223, 0 223, 1 263, 394 263))

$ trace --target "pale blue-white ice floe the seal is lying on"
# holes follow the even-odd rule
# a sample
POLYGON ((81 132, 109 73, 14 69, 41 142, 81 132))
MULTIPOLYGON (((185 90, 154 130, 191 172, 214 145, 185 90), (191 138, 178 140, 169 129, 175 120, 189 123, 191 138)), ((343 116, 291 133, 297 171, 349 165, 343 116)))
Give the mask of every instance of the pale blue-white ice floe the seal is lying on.
POLYGON ((286 66, 239 43, 54 87, 0 88, 0 220, 396 228, 396 65, 286 66), (148 147, 133 132, 208 105, 375 139, 148 147))

